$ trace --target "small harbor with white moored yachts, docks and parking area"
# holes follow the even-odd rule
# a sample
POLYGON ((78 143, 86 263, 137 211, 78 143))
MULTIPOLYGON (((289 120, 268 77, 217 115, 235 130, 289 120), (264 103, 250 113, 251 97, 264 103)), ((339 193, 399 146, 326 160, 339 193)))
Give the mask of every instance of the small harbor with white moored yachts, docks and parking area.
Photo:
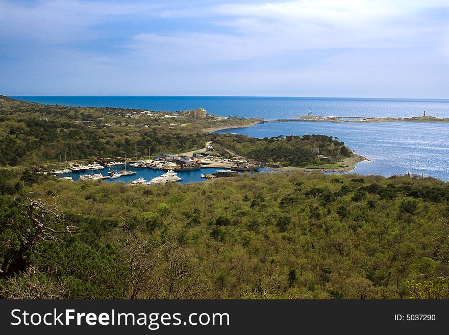
POLYGON ((116 157, 99 158, 96 162, 73 163, 59 170, 43 170, 42 174, 53 174, 60 181, 124 182, 130 185, 158 185, 167 182, 200 182, 217 177, 232 177, 241 172, 268 171, 243 157, 232 155, 221 157, 210 142, 206 147, 180 154, 164 153, 148 156, 147 159, 127 160, 116 157))

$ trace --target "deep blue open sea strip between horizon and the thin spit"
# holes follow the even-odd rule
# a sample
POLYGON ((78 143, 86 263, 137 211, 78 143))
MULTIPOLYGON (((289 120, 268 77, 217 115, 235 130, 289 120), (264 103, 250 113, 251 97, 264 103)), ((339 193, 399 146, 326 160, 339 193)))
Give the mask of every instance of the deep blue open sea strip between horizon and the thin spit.
POLYGON ((12 96, 47 105, 116 107, 152 111, 182 111, 198 107, 217 116, 263 117, 267 120, 307 114, 324 116, 449 117, 449 100, 361 99, 235 96, 12 96))

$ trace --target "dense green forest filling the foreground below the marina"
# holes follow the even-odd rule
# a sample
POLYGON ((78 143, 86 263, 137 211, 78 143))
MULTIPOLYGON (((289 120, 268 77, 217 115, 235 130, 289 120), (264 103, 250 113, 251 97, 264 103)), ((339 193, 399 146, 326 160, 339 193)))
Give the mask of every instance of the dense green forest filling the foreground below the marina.
POLYGON ((431 277, 449 275, 449 186, 436 179, 246 173, 156 187, 21 179, 0 181, 6 298, 447 297, 445 281, 431 277), (55 196, 55 213, 66 213, 48 212, 45 222, 72 233, 39 240, 30 199, 53 208, 55 196))

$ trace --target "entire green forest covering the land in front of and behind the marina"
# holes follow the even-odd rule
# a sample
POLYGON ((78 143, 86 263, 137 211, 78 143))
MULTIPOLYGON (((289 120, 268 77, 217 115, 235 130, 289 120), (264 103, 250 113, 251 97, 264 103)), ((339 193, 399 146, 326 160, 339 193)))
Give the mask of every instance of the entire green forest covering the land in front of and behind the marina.
POLYGON ((139 111, 0 96, 0 298, 449 298, 449 184, 438 179, 259 172, 146 187, 5 168, 207 141, 285 166, 353 154, 334 137, 208 134, 211 120, 130 117, 139 111))

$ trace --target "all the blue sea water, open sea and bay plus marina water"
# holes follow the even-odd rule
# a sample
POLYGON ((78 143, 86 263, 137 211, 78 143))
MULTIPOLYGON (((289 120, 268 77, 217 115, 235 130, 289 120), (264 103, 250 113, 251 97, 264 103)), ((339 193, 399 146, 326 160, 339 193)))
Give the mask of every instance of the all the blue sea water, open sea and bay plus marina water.
MULTIPOLYGON (((309 110, 312 115, 346 117, 412 117, 422 116, 426 111, 426 115, 449 118, 448 99, 228 96, 13 97, 41 104, 75 107, 117 107, 153 111, 181 111, 202 107, 206 108, 208 114, 217 116, 259 117, 266 120, 295 118, 306 115, 309 110)), ((236 133, 259 138, 304 134, 334 136, 345 142, 355 153, 369 159, 358 163, 349 173, 390 176, 405 174, 410 170, 411 173, 419 175, 422 173, 424 176, 449 181, 449 123, 265 122, 217 133, 236 133)), ((201 180, 199 174, 212 173, 200 170, 192 172, 194 171, 189 171, 186 178, 181 173, 179 175, 184 178, 184 182, 194 182, 201 180)))

